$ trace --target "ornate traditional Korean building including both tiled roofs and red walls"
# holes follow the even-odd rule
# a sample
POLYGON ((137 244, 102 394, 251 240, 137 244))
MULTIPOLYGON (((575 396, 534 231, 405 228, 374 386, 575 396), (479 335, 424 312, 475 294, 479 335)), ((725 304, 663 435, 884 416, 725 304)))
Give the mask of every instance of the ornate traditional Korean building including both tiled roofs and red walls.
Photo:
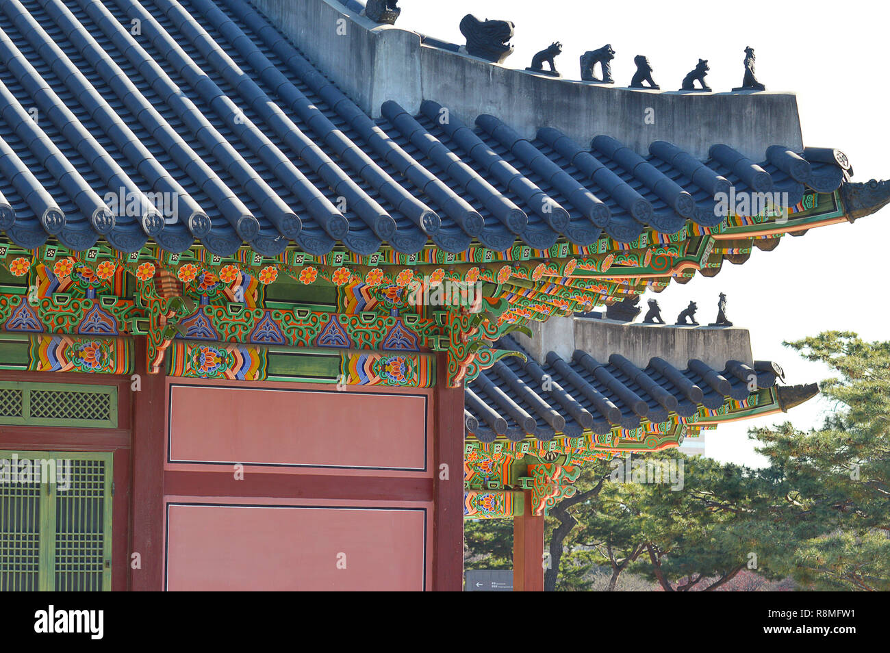
POLYGON ((0 589, 460 590, 482 517, 538 589, 579 465, 813 395, 744 329, 573 316, 890 184, 791 94, 554 79, 394 5, 0 3, 0 589))

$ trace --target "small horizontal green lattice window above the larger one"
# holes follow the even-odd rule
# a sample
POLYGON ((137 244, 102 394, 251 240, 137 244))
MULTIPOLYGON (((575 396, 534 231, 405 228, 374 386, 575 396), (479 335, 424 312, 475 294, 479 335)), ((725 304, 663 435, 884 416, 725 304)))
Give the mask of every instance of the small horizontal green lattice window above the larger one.
POLYGON ((0 382, 0 424, 117 428, 117 388, 0 382))

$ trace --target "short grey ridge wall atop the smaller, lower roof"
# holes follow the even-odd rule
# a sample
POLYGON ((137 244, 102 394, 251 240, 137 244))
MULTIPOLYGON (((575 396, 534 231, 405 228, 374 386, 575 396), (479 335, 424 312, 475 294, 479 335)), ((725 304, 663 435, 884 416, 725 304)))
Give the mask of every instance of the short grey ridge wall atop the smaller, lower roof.
POLYGON ((678 369, 691 359, 722 370, 727 360, 754 364, 748 329, 736 327, 673 327, 617 322, 611 319, 553 317, 530 325, 534 337, 514 334, 532 358, 543 362, 548 351, 570 360, 576 349, 587 351, 601 363, 613 353, 636 367, 646 367, 660 357, 678 369))

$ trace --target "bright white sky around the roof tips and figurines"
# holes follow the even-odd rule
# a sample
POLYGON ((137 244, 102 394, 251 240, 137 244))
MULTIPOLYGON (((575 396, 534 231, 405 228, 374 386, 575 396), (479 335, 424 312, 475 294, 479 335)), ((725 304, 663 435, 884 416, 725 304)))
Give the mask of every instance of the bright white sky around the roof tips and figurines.
MULTIPOLYGON (((554 41, 562 55, 556 69, 578 79, 578 57, 609 43, 617 52, 612 76, 627 85, 643 54, 662 89, 676 90, 697 61, 710 65, 708 85, 729 91, 741 85, 747 45, 756 51, 757 79, 770 91, 797 93, 805 145, 841 149, 854 167, 853 181, 890 178, 886 79, 890 9, 877 2, 578 2, 578 0, 401 0, 400 28, 464 44, 458 24, 466 13, 512 20, 515 52, 508 67, 524 69, 554 41)), ((447 98, 441 98, 447 104, 447 98)), ((595 109, 594 109, 595 110, 595 109)), ((595 134, 590 134, 591 137, 595 134)), ((783 340, 828 329, 886 340, 886 241, 890 208, 854 224, 781 238, 773 252, 754 250, 744 265, 724 262, 716 278, 700 275, 673 284, 659 299, 666 320, 691 300, 702 323, 716 317, 717 294, 727 295, 727 315, 748 327, 755 359, 775 360, 786 383, 821 381, 829 370, 807 363, 783 340)), ((645 306, 645 298, 641 305, 645 306)), ((748 439, 750 426, 788 417, 798 428, 817 426, 829 402, 817 398, 788 415, 726 424, 708 431, 708 455, 740 464, 762 464, 748 439)))

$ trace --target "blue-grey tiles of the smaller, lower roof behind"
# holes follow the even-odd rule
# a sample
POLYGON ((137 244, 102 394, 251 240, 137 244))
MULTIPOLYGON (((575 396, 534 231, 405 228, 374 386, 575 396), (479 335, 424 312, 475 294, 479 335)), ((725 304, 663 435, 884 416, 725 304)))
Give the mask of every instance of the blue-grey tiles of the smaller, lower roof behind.
MULTIPOLYGON (((509 336, 497 346, 522 351, 509 336)), ((660 358, 641 369, 620 354, 600 361, 580 350, 571 360, 551 351, 543 366, 511 356, 466 388, 465 428, 482 442, 498 436, 517 441, 527 435, 553 439, 556 433, 576 437, 587 429, 603 434, 615 426, 635 429, 641 419, 660 423, 670 413, 689 417, 701 406, 721 407, 727 398, 748 399, 751 375, 758 388, 769 388, 781 374, 781 367, 765 361, 752 368, 728 360, 717 370, 692 359, 680 370, 660 358)))

